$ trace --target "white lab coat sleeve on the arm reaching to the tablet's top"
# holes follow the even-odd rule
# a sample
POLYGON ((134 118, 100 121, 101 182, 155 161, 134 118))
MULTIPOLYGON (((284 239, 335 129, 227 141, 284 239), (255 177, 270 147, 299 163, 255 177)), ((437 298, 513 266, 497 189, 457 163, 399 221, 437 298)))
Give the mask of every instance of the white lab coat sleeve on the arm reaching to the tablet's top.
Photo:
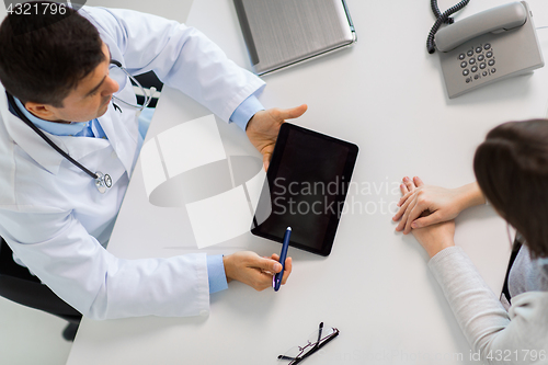
POLYGON ((260 78, 229 60, 193 27, 125 9, 84 7, 80 11, 103 36, 114 39, 130 73, 153 70, 167 85, 181 90, 225 122, 238 105, 264 88, 260 78))

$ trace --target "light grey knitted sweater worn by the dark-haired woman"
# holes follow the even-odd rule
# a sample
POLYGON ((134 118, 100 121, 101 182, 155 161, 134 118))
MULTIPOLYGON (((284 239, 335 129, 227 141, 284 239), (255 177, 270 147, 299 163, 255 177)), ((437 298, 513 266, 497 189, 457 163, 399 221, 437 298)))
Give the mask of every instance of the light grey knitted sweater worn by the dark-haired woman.
POLYGON ((483 361, 496 365, 548 363, 548 292, 518 294, 506 311, 459 247, 438 252, 429 267, 483 361))

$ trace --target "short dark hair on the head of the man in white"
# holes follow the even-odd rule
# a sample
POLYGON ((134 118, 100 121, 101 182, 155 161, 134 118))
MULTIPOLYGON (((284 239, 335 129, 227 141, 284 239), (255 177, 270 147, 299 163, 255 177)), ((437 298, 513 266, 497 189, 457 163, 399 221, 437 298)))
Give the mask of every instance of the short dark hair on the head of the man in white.
POLYGON ((93 24, 75 10, 65 10, 64 14, 12 12, 0 25, 0 81, 23 103, 62 107, 78 82, 105 59, 93 24))

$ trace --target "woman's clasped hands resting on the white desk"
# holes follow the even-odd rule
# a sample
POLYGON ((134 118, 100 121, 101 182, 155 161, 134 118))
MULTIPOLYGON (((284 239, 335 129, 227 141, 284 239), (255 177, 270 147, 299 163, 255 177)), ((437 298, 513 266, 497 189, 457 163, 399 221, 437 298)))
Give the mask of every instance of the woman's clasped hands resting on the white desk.
POLYGON ((464 209, 486 202, 477 183, 444 189, 424 185, 416 176, 412 180, 406 176, 400 189, 403 196, 392 220, 401 219, 396 230, 404 235, 411 229, 455 219, 464 209))

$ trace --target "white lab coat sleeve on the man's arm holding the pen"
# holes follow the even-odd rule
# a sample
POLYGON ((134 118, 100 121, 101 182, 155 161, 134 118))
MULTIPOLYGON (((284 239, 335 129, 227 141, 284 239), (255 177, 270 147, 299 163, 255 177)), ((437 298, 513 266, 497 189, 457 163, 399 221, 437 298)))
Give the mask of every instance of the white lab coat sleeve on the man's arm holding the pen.
POLYGON ((205 254, 118 259, 70 212, 1 209, 0 221, 0 236, 15 255, 85 317, 185 317, 208 310, 205 254))

